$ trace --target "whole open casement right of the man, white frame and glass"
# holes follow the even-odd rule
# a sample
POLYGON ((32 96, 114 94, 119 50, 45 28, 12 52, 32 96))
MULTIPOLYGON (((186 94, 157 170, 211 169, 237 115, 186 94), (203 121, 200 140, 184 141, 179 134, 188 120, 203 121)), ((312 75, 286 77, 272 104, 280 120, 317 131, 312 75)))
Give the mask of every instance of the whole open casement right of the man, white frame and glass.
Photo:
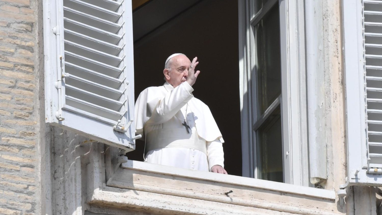
POLYGON ((248 0, 241 8, 243 176, 308 186, 301 2, 248 0))

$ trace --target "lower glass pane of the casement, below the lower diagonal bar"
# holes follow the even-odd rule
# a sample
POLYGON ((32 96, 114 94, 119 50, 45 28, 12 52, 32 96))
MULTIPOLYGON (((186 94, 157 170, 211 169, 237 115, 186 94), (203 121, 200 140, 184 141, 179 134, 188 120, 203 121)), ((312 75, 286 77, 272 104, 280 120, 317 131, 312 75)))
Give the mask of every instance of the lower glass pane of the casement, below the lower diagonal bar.
POLYGON ((280 106, 256 133, 258 178, 284 182, 280 106))

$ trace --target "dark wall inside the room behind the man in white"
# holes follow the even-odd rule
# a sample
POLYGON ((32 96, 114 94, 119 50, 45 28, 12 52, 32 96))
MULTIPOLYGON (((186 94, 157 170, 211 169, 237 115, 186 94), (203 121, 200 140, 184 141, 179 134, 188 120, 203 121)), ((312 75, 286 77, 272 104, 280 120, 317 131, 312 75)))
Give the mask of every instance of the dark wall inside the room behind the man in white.
MULTIPOLYGON (((155 1, 159 0, 152 2, 155 1)), ((145 88, 162 85, 169 55, 184 53, 190 59, 197 56, 201 74, 193 94, 209 106, 223 135, 225 169, 231 175, 241 176, 238 49, 238 3, 199 1, 134 43, 134 90, 137 98, 145 88)), ((127 156, 143 160, 144 142, 136 143, 136 150, 127 156)))

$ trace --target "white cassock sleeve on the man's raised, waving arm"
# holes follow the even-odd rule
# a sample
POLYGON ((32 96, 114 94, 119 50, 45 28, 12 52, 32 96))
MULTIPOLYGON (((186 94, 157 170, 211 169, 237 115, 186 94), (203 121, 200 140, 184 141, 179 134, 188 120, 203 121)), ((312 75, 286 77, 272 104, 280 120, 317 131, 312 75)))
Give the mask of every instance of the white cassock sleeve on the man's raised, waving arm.
POLYGON ((186 103, 194 97, 191 94, 193 91, 194 89, 185 81, 168 92, 159 102, 149 102, 149 106, 152 107, 155 105, 155 107, 146 125, 162 124, 170 120, 180 108, 185 106, 186 103))

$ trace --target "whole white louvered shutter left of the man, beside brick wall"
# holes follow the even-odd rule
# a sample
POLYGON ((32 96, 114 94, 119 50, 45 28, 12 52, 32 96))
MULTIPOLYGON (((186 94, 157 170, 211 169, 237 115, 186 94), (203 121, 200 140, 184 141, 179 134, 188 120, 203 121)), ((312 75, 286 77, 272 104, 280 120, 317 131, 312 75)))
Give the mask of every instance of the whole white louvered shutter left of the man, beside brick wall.
POLYGON ((131 0, 45 0, 46 121, 134 150, 131 0))

